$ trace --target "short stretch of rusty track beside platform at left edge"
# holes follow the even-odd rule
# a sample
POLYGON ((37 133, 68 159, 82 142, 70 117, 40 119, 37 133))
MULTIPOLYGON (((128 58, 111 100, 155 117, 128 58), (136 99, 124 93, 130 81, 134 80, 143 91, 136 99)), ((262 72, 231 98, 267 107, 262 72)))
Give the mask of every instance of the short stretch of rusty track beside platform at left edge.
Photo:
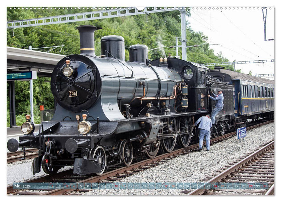
POLYGON ((7 163, 12 163, 15 161, 21 161, 24 159, 31 159, 38 156, 38 149, 26 149, 25 155, 23 155, 23 151, 16 152, 8 152, 7 153, 7 163), (24 158, 25 157, 25 158, 24 158))

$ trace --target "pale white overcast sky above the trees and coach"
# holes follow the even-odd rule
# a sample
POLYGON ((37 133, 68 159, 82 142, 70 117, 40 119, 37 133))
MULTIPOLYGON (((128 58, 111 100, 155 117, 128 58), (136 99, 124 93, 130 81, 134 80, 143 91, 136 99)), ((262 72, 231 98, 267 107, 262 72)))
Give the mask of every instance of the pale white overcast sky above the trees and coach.
MULTIPOLYGON (((224 6, 222 10, 221 7, 211 7, 210 10, 203 6, 192 8, 191 17, 187 18, 191 28, 207 35, 208 43, 222 44, 210 45, 215 53, 221 51, 229 61, 274 59, 274 41, 264 41, 261 7, 232 6, 229 9, 229 6, 224 6)), ((274 38, 274 7, 267 9, 266 38, 274 38)), ((250 70, 253 74, 274 73, 272 62, 240 64, 235 68, 242 68, 244 73, 250 70)))

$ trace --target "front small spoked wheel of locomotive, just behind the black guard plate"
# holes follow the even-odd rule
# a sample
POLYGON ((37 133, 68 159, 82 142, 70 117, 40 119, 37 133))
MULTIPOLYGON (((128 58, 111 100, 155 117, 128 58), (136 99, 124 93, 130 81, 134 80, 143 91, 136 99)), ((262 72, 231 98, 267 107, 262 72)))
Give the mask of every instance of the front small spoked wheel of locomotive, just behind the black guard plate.
POLYGON ((102 146, 96 146, 91 149, 89 160, 92 160, 95 163, 100 164, 101 172, 94 173, 96 175, 102 175, 106 167, 106 154, 102 146))

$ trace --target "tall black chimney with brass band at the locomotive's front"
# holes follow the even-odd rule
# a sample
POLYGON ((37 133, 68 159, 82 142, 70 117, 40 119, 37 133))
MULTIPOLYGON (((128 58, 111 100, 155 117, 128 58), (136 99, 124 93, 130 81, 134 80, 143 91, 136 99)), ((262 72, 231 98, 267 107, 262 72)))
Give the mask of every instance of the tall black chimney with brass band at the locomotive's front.
POLYGON ((95 57, 95 30, 102 29, 93 25, 76 27, 80 34, 80 54, 95 57))

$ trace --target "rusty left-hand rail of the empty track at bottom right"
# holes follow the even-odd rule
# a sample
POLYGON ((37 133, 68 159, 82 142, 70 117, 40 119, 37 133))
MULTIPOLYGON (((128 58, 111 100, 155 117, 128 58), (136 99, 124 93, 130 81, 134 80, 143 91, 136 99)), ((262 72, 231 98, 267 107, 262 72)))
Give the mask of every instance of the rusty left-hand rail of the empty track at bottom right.
MULTIPOLYGON (((227 175, 229 175, 230 173, 236 171, 236 169, 242 167, 244 164, 246 164, 247 162, 250 162, 253 158, 255 158, 256 156, 258 156, 259 154, 261 154, 262 152, 264 152, 265 150, 267 150, 269 147, 271 147, 272 145, 274 145, 274 140, 265 145, 264 147, 258 149, 256 152, 250 154, 249 156, 247 156, 246 158, 240 160, 239 162, 237 162, 236 164, 234 164, 233 166, 229 167, 228 169, 226 169, 225 171, 221 172, 220 174, 216 175, 215 177, 213 177, 212 179, 208 180, 208 182, 206 183, 216 183, 219 182, 221 179, 225 178, 227 175)), ((211 188, 207 188, 207 189, 195 189, 191 192, 189 192, 187 195, 201 195, 203 194, 206 190, 209 190, 211 188)))

